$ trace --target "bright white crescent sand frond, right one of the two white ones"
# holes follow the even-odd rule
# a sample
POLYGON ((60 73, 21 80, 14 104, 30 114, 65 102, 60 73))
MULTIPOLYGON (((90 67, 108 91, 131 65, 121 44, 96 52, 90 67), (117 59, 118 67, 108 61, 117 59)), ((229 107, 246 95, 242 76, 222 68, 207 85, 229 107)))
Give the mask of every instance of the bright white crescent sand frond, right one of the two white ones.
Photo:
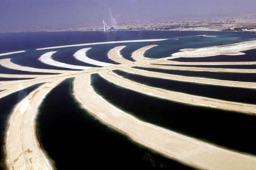
POLYGON ((93 65, 96 65, 96 66, 113 66, 114 64, 110 64, 110 63, 104 63, 104 62, 101 62, 101 61, 97 61, 97 60, 93 60, 89 57, 86 56, 86 52, 88 50, 90 50, 91 48, 83 48, 81 50, 78 50, 75 52, 74 54, 74 57, 76 59, 78 59, 79 61, 83 61, 84 63, 89 63, 89 64, 93 64, 93 65))

